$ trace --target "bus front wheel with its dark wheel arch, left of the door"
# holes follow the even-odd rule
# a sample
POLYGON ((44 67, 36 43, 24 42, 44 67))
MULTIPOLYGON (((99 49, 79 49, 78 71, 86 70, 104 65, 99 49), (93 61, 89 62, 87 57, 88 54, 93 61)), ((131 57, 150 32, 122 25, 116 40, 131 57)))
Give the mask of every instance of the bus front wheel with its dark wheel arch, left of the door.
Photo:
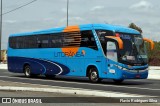
POLYGON ((89 66, 87 68, 87 77, 93 83, 100 82, 102 80, 99 78, 99 73, 95 66, 89 66))

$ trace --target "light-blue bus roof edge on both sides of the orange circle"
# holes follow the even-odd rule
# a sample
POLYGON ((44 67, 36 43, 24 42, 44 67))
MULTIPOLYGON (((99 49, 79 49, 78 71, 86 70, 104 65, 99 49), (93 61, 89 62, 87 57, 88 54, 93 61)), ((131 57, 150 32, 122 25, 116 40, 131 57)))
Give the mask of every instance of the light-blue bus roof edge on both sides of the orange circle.
MULTIPOLYGON (((134 30, 128 27, 124 27, 124 26, 111 25, 111 24, 83 24, 83 25, 78 25, 77 27, 79 27, 81 31, 91 30, 91 29, 104 29, 104 30, 111 30, 114 32, 140 34, 137 30, 134 30)), ((10 36, 25 36, 25 35, 36 35, 36 34, 59 33, 59 32, 63 32, 65 28, 66 27, 51 28, 51 29, 46 29, 46 30, 34 31, 34 32, 11 34, 10 36)))

